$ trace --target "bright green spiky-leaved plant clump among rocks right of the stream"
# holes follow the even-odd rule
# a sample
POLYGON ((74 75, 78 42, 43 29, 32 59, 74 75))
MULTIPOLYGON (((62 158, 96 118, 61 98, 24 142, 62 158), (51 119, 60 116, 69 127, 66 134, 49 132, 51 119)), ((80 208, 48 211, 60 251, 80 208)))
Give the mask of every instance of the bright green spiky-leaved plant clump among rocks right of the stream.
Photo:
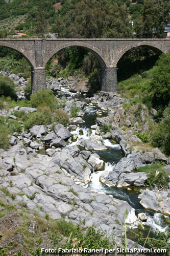
POLYGON ((151 189, 153 189, 154 184, 156 184, 158 188, 168 188, 170 178, 168 177, 168 172, 162 169, 164 165, 165 163, 163 162, 155 161, 150 165, 139 167, 137 171, 148 173, 146 184, 149 185, 151 189))

